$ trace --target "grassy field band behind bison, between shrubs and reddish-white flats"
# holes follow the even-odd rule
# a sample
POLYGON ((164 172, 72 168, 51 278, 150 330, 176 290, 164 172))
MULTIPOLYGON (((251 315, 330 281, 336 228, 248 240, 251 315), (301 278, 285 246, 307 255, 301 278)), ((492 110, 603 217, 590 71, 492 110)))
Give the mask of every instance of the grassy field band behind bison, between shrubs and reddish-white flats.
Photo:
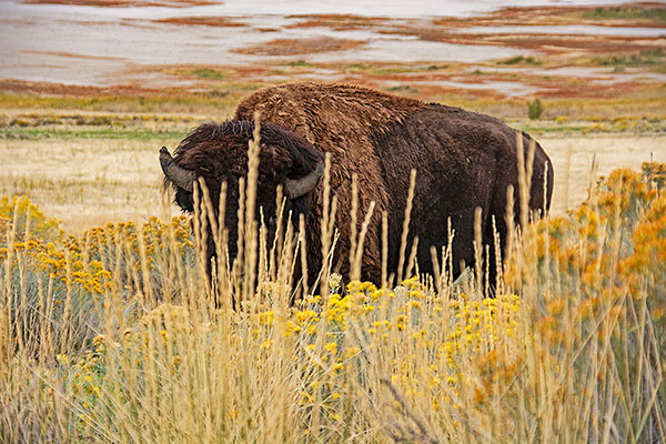
MULTIPOLYGON (((195 125, 228 119, 246 93, 233 91, 223 98, 0 94, 0 195, 28 195, 75 234, 107 222, 143 223, 160 214, 160 147, 173 149, 195 125)), ((599 174, 666 162, 666 109, 658 98, 546 99, 539 119, 527 119, 525 101, 444 103, 535 135, 555 165, 556 213, 579 204, 599 174)))

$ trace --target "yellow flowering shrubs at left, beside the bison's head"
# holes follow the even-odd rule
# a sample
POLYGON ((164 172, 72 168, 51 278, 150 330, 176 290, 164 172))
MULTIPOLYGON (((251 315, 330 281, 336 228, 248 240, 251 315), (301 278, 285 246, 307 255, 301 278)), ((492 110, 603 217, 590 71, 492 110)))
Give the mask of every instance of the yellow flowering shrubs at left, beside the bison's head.
MULTIPOLYGON (((9 200, 2 211, 8 211, 9 200)), ((9 279, 24 282, 21 297, 10 297, 11 316, 19 316, 26 307, 42 306, 44 313, 30 317, 31 332, 53 327, 65 321, 67 329, 56 329, 54 337, 68 340, 70 347, 80 347, 94 336, 103 324, 103 305, 109 295, 120 296, 128 303, 137 300, 132 291, 143 282, 142 264, 153 276, 154 270, 173 255, 192 268, 195 264, 189 221, 173 218, 170 224, 151 218, 141 228, 133 223, 108 224, 87 231, 81 236, 64 236, 57 220, 47 219, 28 199, 14 199, 13 209, 30 214, 27 236, 17 233, 20 218, 4 218, 1 236, 11 241, 0 248, 0 279, 9 271, 9 279), (37 232, 32 232, 32 228, 37 232), (56 231, 56 229, 58 229, 56 231), (59 233, 53 236, 53 233, 59 233), (173 252, 172 252, 173 250, 173 252), (10 266, 4 266, 7 263, 10 266)), ((13 210, 12 210, 13 211, 13 210)), ((26 233, 26 229, 20 228, 26 233)), ((34 345, 37 346, 37 345, 34 345)), ((63 351, 62 354, 67 352, 63 351)))

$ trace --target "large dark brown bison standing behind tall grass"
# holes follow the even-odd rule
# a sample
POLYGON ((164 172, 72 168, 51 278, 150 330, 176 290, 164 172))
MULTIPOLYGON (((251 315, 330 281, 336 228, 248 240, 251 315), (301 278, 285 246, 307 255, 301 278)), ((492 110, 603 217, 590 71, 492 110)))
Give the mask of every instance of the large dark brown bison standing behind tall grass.
MULTIPOLYGON (((359 178, 360 212, 367 212, 373 201, 376 204, 375 216, 367 228, 363 280, 379 282, 382 276, 380 214, 384 212, 389 222, 389 270, 395 272, 398 266, 412 169, 417 174, 410 236, 418 236, 416 260, 421 272, 433 272, 431 245, 440 249, 447 244, 448 220, 455 230, 454 276, 461 273, 462 261, 474 263, 477 208, 482 210, 483 243, 494 244, 493 218, 500 238, 505 239, 509 185, 516 193, 514 214, 515 222, 519 222, 516 138, 522 138, 524 147, 528 147, 536 143, 529 135, 516 132, 498 119, 461 108, 349 84, 293 83, 252 93, 224 123, 200 125, 180 143, 173 158, 167 149, 161 150, 165 184, 173 186, 175 202, 184 211, 193 211, 196 178, 205 180, 213 208, 218 208, 221 183, 229 184, 225 226, 230 229, 231 258, 236 244, 238 182, 248 173, 248 142, 253 137, 256 112, 262 121, 256 205, 263 208, 263 214, 275 214, 276 186, 284 186, 293 220, 304 215, 311 268, 319 269, 322 263, 323 190, 319 182, 324 153, 332 154, 330 184, 337 196, 335 225, 340 232, 333 264, 342 275, 350 270, 354 173, 359 178)), ((536 143, 529 209, 547 211, 552 192, 553 165, 536 143)), ((215 254, 211 236, 209 243, 210 260, 215 254)), ((495 273, 493 265, 491 260, 491 274, 495 273)))

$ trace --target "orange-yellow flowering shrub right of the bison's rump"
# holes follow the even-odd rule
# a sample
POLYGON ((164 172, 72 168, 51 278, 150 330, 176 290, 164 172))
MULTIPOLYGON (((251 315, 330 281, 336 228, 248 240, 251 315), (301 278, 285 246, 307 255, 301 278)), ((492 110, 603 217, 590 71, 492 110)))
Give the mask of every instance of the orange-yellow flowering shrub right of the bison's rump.
POLYGON ((505 276, 515 287, 532 289, 541 357, 556 361, 567 349, 584 349, 589 337, 610 336, 630 386, 640 362, 633 345, 645 337, 629 344, 619 336, 647 327, 654 346, 666 347, 666 164, 612 172, 589 201, 568 216, 542 220, 531 235, 534 248, 522 254, 525 262, 536 258, 536 268, 518 274, 512 263, 505 276))

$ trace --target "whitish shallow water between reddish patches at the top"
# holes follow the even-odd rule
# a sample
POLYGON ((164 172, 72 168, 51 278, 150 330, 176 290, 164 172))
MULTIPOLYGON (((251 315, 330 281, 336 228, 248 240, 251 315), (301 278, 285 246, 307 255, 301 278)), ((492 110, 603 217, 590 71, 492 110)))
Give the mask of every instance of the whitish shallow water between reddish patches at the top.
MULTIPOLYGON (((586 4, 622 3, 620 0, 587 0, 586 4)), ((225 0, 221 4, 191 8, 128 7, 98 8, 64 4, 24 4, 0 0, 0 78, 64 84, 114 85, 141 81, 147 71, 150 85, 186 85, 174 77, 160 74, 154 65, 164 64, 252 64, 304 59, 311 62, 464 62, 482 63, 514 56, 538 56, 535 51, 511 47, 453 44, 423 41, 415 37, 390 33, 390 28, 334 30, 331 28, 286 28, 303 18, 291 14, 346 13, 387 17, 393 24, 407 21, 431 24, 442 16, 487 13, 501 6, 581 4, 562 0, 274 0, 248 2, 225 0), (225 28, 160 23, 173 17, 230 17, 245 27, 225 28), (266 28, 274 32, 264 32, 266 28), (384 31, 382 33, 381 31, 384 31), (389 32, 389 33, 385 33, 389 32), (363 42, 353 50, 297 53, 273 57, 239 53, 238 50, 276 39, 331 37, 363 42), (131 74, 130 74, 131 73, 131 74), (152 73, 152 74, 151 74, 152 73), (151 74, 151 75, 148 75, 151 74), (171 82, 171 83, 169 83, 171 82)), ((515 32, 538 28, 542 33, 561 27, 481 27, 480 33, 515 32), (504 31, 502 31, 504 32, 504 31)), ((569 27, 576 32, 606 32, 604 27, 569 27)), ((452 30, 453 31, 453 30, 452 30)), ((466 32, 470 29, 464 30, 466 32)), ((533 31, 537 31, 534 29, 533 31)), ((573 32, 573 31, 572 31, 573 32)), ((647 36, 648 30, 618 28, 608 32, 647 36)), ((663 32, 663 30, 649 30, 663 32)), ((652 36, 652 34, 650 34, 652 36)), ((455 83, 455 82, 454 82, 455 83)), ((483 85, 488 87, 490 84, 483 85)), ((472 85, 467 88, 480 88, 472 85)), ((518 82, 493 84, 509 95, 523 95, 532 89, 518 82), (513 85, 512 85, 513 83, 513 85)))

